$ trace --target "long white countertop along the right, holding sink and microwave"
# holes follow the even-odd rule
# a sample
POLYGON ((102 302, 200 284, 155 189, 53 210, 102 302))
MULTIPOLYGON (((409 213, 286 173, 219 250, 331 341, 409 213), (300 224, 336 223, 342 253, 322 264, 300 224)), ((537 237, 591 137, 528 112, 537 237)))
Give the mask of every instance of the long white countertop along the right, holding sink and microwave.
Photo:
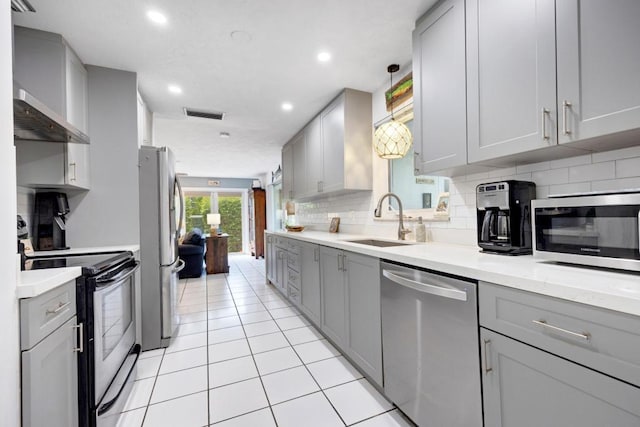
POLYGON ((381 248, 345 241, 369 236, 268 233, 640 316, 640 274, 542 262, 531 255, 487 254, 476 247, 446 243, 381 248))

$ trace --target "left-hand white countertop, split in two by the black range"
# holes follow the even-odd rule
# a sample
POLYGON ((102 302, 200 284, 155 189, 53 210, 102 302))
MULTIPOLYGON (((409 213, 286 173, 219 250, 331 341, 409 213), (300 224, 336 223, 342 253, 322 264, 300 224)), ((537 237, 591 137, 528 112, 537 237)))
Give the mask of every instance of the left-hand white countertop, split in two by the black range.
MULTIPOLYGON (((59 256, 95 254, 140 250, 140 245, 98 246, 90 248, 73 248, 59 251, 38 251, 30 256, 59 256)), ((45 268, 42 270, 20 271, 16 286, 17 298, 32 298, 64 285, 82 275, 81 267, 45 268)))

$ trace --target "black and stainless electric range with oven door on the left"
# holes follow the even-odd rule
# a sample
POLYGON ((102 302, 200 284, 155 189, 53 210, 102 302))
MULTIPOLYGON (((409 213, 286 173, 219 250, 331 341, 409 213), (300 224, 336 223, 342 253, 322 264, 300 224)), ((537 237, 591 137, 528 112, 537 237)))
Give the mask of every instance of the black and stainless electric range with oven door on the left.
POLYGON ((81 427, 117 424, 135 380, 135 273, 139 262, 129 251, 40 255, 27 258, 26 270, 81 267, 76 309, 81 325, 78 353, 78 408, 81 427))

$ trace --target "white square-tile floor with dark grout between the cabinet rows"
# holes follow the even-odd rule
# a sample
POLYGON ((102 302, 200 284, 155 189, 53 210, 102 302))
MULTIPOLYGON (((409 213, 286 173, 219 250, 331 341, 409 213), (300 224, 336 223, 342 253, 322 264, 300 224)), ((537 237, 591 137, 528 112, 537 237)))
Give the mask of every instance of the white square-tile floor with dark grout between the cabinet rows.
POLYGON ((410 426, 280 294, 264 261, 181 280, 178 336, 144 352, 120 427, 410 426))

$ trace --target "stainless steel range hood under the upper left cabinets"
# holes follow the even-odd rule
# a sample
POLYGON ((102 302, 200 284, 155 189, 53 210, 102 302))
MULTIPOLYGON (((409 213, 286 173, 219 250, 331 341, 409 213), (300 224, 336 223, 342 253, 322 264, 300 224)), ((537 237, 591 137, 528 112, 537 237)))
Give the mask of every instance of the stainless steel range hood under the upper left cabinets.
POLYGON ((13 85, 13 136, 16 140, 89 143, 88 135, 16 83, 13 85))

